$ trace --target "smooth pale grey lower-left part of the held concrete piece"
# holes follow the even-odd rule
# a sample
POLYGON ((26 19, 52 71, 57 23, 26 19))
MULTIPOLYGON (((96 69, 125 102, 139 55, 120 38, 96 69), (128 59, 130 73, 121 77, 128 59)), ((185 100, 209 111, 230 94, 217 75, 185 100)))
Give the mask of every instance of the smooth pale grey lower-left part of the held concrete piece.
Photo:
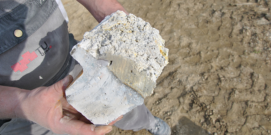
POLYGON ((93 58, 78 46, 73 51, 83 73, 66 89, 66 98, 93 124, 107 125, 143 104, 144 98, 108 69, 107 60, 93 58))

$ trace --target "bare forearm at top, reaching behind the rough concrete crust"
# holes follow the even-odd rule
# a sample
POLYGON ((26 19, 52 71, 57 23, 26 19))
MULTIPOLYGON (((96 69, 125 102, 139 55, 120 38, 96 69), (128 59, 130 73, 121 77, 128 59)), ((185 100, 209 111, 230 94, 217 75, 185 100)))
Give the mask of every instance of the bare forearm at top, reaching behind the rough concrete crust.
POLYGON ((117 0, 77 0, 100 23, 106 16, 120 10, 128 12, 117 0))

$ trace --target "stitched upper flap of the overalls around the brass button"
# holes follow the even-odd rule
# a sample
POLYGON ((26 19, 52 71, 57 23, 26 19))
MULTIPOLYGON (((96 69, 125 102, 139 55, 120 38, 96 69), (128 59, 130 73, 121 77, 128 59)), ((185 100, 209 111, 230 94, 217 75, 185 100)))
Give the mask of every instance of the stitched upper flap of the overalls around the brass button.
POLYGON ((57 9, 54 0, 28 0, 13 11, 0 17, 0 54, 22 42, 40 28, 57 9), (41 12, 42 11, 42 12, 41 12), (12 20, 12 23, 10 23, 12 20), (15 30, 22 31, 16 37, 15 30))

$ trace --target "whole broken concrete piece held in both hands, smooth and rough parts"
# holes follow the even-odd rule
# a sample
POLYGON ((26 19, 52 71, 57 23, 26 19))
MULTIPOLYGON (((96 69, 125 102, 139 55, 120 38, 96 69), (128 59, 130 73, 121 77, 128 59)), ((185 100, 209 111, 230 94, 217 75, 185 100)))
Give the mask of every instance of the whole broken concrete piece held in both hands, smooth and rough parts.
POLYGON ((93 124, 109 124, 143 104, 168 64, 159 31, 117 11, 72 48, 83 73, 66 90, 67 101, 93 124))

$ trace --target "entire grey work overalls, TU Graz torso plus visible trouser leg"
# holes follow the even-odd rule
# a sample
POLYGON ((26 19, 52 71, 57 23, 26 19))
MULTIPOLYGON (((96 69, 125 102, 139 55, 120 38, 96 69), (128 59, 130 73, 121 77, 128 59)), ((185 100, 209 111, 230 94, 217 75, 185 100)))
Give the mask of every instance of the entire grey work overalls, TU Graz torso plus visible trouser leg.
MULTIPOLYGON (((50 86, 68 74, 75 77, 82 69, 69 54, 77 41, 68 33, 60 0, 0 0, 0 8, 0 85, 32 90, 50 86)), ((143 104, 115 126, 138 131, 152 120, 143 104)), ((24 119, 2 124, 1 135, 54 134, 24 119)))

